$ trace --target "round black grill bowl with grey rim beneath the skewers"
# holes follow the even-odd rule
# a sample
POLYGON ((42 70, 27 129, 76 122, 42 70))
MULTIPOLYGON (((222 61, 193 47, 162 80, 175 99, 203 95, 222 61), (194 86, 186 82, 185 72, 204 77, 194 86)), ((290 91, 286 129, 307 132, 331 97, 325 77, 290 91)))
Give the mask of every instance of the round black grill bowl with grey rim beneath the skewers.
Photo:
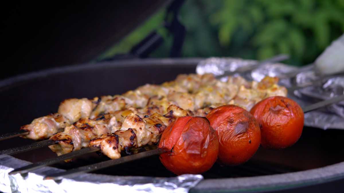
MULTIPOLYGON (((97 64, 54 68, 0 82, 1 133, 14 132, 33 118, 55 112, 66 98, 92 98, 121 94, 145 83, 173 80, 180 73, 194 73, 201 58, 129 59, 97 64)), ((260 148, 247 163, 235 167, 214 167, 203 173, 205 180, 190 192, 342 192, 344 150, 341 130, 305 127, 300 140, 290 148, 260 148)), ((0 141, 0 150, 32 143, 13 138, 0 141)), ((13 157, 37 162, 56 156, 49 148, 24 152, 13 157)), ((55 168, 71 169, 108 158, 96 153, 55 168)), ((111 167, 95 173, 120 176, 173 177, 158 156, 111 167)))

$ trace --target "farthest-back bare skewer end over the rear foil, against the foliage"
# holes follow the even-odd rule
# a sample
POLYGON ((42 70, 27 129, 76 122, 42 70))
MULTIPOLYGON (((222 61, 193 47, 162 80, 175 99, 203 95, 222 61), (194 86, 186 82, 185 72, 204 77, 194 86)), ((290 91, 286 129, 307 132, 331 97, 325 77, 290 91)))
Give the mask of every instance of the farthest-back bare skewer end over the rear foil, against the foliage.
POLYGON ((245 73, 245 72, 248 72, 248 71, 251 71, 251 70, 254 70, 254 69, 258 68, 261 65, 268 64, 268 63, 277 63, 277 62, 280 62, 280 61, 283 61, 283 60, 287 60, 287 59, 289 59, 288 55, 280 54, 280 55, 274 56, 272 58, 268 58, 266 60, 262 60, 262 61, 260 61, 259 63, 255 64, 255 65, 243 66, 243 67, 237 68, 233 72, 232 71, 231 72, 226 71, 223 75, 215 76, 215 78, 216 79, 220 79, 220 78, 223 78, 223 77, 226 77, 226 76, 235 75, 236 73, 245 73))

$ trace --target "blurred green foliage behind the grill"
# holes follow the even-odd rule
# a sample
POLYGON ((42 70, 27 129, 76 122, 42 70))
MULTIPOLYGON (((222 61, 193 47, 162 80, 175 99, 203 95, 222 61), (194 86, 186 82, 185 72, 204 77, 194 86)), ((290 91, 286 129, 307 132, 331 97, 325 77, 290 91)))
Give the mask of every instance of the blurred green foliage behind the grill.
MULTIPOLYGON (((99 58, 127 53, 157 28, 165 42, 151 57, 168 57, 164 16, 162 9, 99 58)), ((344 0, 186 0, 180 19, 187 28, 183 57, 261 60, 284 53, 289 64, 305 65, 344 33, 344 0)))

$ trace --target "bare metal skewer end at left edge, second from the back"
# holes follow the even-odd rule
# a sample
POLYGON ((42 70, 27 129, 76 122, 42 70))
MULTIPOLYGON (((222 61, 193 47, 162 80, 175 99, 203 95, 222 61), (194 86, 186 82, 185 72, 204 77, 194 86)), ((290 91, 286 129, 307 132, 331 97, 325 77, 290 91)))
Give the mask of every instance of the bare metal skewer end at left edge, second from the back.
POLYGON ((14 147, 14 148, 10 148, 10 149, 5 149, 0 151, 0 155, 13 155, 13 154, 19 154, 21 152, 25 152, 25 151, 30 151, 30 150, 34 150, 34 149, 38 149, 41 147, 45 147, 45 146, 50 146, 50 145, 54 145, 56 144, 57 141, 51 140, 51 139, 47 139, 44 141, 39 141, 33 144, 29 144, 29 145, 25 145, 22 147, 14 147))

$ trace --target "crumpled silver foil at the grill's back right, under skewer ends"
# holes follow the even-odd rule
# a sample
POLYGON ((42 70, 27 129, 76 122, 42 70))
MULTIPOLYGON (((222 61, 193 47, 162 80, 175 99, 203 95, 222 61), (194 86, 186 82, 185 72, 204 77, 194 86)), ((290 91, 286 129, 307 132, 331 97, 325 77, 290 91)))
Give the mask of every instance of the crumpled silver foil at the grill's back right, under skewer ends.
MULTIPOLYGON (((239 67, 254 64, 257 64, 257 61, 240 58, 208 58, 197 65, 196 72, 222 75, 224 71, 235 71, 239 67)), ((302 107, 344 94, 344 75, 320 80, 314 69, 314 65, 297 68, 281 63, 265 64, 250 72, 241 73, 240 76, 255 81, 260 81, 265 76, 279 77, 279 84, 287 89, 315 81, 314 86, 288 92, 288 97, 297 101, 302 107)), ((221 80, 226 81, 226 78, 221 80)), ((344 101, 305 113, 304 125, 322 129, 344 129, 344 101)))

